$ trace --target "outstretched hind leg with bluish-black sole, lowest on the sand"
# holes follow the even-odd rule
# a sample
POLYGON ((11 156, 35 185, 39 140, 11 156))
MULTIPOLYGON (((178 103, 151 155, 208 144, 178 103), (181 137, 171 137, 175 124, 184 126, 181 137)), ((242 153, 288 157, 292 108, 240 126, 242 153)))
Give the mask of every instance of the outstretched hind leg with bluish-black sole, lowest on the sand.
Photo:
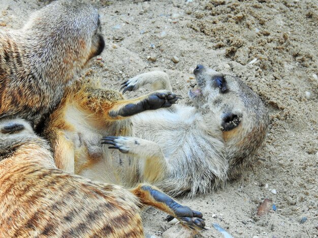
POLYGON ((139 198, 143 205, 164 211, 192 229, 202 229, 205 226, 201 212, 178 204, 170 196, 153 186, 139 184, 137 187, 131 189, 131 192, 139 198))

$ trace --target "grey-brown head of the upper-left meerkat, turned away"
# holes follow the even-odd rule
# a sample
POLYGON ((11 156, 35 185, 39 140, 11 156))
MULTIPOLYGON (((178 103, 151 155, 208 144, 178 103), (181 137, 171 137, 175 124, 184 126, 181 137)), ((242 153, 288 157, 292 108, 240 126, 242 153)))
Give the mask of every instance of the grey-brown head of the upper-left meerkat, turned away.
POLYGON ((31 65, 65 83, 105 47, 97 10, 77 1, 52 2, 31 15, 23 30, 31 65))

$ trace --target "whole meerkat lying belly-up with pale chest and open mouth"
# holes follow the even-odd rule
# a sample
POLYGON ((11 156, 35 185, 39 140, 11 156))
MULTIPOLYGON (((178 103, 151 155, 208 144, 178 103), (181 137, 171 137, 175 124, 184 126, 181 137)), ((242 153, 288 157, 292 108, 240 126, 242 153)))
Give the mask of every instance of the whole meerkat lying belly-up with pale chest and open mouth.
MULTIPOLYGON (((147 182, 173 195, 205 194, 224 185, 252 162, 266 135, 268 113, 238 78, 202 65, 194 73, 193 106, 173 105, 177 97, 168 92, 131 100, 102 89, 66 94, 44 133, 58 168, 126 186, 147 182), (148 110, 160 105, 172 106, 148 110), (108 137, 102 144, 123 153, 103 147, 103 135, 108 137)), ((168 75, 160 71, 138 75, 123 89, 145 84, 171 90, 168 75)))

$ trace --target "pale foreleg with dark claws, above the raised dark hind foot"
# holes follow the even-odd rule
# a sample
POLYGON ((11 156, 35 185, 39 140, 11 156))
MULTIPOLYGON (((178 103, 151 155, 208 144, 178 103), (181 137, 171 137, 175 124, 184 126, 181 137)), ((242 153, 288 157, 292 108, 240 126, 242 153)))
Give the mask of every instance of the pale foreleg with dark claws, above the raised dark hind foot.
POLYGON ((120 90, 123 89, 122 93, 125 93, 126 91, 136 91, 147 84, 151 85, 152 90, 166 89, 172 91, 169 76, 162 71, 142 73, 130 78, 128 81, 121 84, 120 90))

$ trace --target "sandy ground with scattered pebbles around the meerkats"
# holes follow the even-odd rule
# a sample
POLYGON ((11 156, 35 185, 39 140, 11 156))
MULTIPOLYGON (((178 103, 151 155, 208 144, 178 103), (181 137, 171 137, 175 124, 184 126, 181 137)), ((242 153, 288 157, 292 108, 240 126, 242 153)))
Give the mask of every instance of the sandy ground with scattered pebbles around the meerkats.
MULTIPOLYGON (((211 227, 198 236, 222 237, 212 226, 217 222, 234 237, 317 237, 318 1, 91 2, 102 17, 106 49, 88 74, 106 87, 119 89, 126 78, 162 69, 186 103, 191 70, 202 63, 237 75, 270 111, 265 144, 241 178, 205 197, 179 197, 211 227), (265 198, 277 210, 258 217, 265 198)), ((0 29, 19 28, 45 4, 1 0, 0 29)), ((161 236, 171 227, 165 217, 147 210, 147 233, 161 236)))

